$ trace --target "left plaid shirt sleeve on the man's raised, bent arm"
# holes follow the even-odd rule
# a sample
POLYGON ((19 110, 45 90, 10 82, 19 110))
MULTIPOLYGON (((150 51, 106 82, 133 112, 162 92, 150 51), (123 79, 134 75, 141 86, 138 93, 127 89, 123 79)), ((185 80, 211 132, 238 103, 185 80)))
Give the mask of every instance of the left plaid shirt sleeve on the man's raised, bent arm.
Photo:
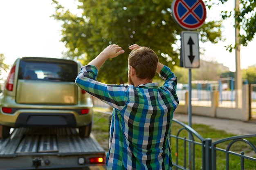
POLYGON ((122 110, 127 101, 128 86, 117 84, 104 84, 98 82, 97 68, 95 66, 83 66, 76 77, 75 83, 87 93, 101 99, 110 106, 122 110))

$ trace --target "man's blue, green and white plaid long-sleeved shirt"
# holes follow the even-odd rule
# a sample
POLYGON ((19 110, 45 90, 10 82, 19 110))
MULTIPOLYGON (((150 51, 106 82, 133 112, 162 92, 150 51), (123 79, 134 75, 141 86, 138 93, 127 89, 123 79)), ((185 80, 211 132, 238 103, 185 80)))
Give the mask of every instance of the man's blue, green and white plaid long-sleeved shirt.
POLYGON ((83 66, 76 84, 112 106, 107 169, 171 170, 169 133, 178 105, 177 78, 164 66, 159 74, 165 82, 107 85, 96 81, 97 68, 83 66))

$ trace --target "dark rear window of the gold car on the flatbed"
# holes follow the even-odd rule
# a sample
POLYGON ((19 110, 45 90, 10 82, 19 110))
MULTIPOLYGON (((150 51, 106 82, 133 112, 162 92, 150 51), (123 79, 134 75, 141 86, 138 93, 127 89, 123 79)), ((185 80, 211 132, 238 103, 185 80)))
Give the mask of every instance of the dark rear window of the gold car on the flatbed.
POLYGON ((42 62, 20 60, 18 79, 74 82, 77 76, 76 62, 42 62))

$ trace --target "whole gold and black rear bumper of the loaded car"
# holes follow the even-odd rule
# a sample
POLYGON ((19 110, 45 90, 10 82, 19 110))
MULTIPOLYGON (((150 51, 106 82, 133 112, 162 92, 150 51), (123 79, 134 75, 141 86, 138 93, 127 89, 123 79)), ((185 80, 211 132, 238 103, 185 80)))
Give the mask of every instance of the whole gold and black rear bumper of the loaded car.
MULTIPOLYGON (((0 124, 9 127, 81 127, 92 123, 93 110, 79 114, 82 108, 11 108, 4 113, 0 105, 0 124)), ((84 108, 83 108, 84 109, 84 108)))

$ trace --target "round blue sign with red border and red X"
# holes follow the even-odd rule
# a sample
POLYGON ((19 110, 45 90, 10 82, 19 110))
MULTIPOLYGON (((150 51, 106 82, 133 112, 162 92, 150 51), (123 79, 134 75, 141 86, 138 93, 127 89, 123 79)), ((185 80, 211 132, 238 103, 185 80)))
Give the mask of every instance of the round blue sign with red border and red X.
POLYGON ((198 29, 204 24, 206 9, 202 0, 173 0, 174 20, 184 29, 198 29))

